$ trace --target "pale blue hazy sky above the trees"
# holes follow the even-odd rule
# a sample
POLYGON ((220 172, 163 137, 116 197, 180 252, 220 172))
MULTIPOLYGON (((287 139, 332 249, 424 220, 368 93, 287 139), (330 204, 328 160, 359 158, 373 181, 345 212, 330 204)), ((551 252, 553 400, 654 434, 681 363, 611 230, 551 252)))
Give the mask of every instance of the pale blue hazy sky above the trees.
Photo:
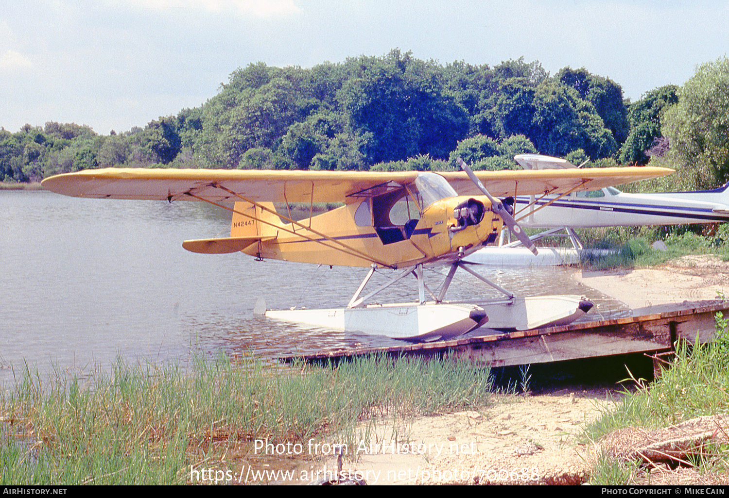
POLYGON ((108 135, 214 97, 237 68, 397 48, 445 66, 586 68, 631 100, 725 57, 729 1, 0 0, 0 127, 108 135))

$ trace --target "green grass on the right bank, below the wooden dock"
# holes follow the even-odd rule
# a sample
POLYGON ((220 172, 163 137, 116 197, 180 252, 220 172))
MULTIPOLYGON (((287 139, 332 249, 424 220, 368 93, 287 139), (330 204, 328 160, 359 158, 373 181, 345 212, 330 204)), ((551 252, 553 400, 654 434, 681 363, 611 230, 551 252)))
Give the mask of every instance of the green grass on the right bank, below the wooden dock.
MULTIPOLYGON (((727 413, 729 410, 728 320, 717 314, 714 341, 709 344, 679 342, 670 368, 652 384, 632 379, 635 392, 625 393, 615 411, 602 414, 585 428, 585 439, 599 440, 624 427, 667 427, 697 416, 727 413)), ((729 447, 717 446, 696 462, 712 473, 729 470, 729 447)), ((637 471, 634 462, 621 465, 601 459, 593 468, 594 484, 627 484, 637 471)))

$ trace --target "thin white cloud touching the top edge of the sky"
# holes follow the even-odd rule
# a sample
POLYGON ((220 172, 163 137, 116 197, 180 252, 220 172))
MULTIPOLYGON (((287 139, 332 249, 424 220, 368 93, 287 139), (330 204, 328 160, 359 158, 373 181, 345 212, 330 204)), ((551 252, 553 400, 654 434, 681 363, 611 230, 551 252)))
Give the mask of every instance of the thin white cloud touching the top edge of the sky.
POLYGON ((132 3, 145 9, 202 9, 255 17, 291 15, 300 11, 296 0, 132 0, 132 3))

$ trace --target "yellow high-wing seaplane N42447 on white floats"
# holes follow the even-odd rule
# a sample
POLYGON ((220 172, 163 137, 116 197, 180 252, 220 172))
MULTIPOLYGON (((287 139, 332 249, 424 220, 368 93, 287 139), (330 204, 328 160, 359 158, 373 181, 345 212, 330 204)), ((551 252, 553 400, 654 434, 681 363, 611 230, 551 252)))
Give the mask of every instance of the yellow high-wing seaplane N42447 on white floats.
POLYGON ((259 259, 370 267, 346 308, 265 311, 266 316, 428 341, 466 333, 487 321, 490 328, 511 330, 567 323, 592 306, 579 296, 520 298, 464 264, 465 256, 494 243, 504 225, 536 253, 495 197, 517 192, 569 194, 671 173, 663 168, 623 167, 474 174, 463 162, 461 167, 463 172, 445 173, 109 168, 56 175, 42 184, 75 197, 192 200, 228 209, 233 213, 230 237, 187 240, 183 247, 195 253, 240 251, 259 259), (314 202, 344 205, 295 221, 288 212, 278 213, 273 202, 306 203, 312 206, 312 215, 314 202), (431 288, 424 281, 424 268, 436 266, 448 272, 440 285, 431 288), (394 277, 363 296, 378 269, 392 269, 394 277), (491 285, 499 297, 445 301, 458 269, 491 285), (418 301, 366 304, 410 274, 417 279, 418 301))

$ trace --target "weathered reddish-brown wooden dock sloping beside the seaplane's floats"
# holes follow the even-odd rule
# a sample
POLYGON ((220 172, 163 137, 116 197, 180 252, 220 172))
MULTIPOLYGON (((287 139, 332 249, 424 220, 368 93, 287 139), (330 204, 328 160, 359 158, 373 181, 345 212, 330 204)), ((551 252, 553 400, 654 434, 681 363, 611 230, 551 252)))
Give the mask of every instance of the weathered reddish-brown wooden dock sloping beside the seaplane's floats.
POLYGON ((692 344, 714 339, 717 312, 729 310, 729 301, 696 301, 666 305, 662 312, 648 315, 573 323, 531 331, 492 331, 489 335, 467 336, 449 341, 418 344, 403 343, 395 347, 362 347, 290 355, 279 360, 325 362, 361 355, 448 355, 467 358, 476 364, 491 366, 550 363, 578 358, 661 353, 674 350, 679 339, 692 344))

